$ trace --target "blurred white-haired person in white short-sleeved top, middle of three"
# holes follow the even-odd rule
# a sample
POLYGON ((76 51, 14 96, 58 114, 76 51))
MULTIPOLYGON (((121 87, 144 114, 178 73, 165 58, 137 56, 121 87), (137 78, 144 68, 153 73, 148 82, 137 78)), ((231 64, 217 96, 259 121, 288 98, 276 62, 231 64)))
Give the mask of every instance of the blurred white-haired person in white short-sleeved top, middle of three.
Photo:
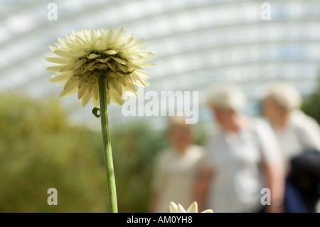
POLYGON ((242 115, 245 95, 226 85, 208 95, 218 131, 208 139, 198 201, 215 212, 282 212, 284 180, 279 145, 264 120, 242 115), (262 205, 262 189, 270 205, 262 205))

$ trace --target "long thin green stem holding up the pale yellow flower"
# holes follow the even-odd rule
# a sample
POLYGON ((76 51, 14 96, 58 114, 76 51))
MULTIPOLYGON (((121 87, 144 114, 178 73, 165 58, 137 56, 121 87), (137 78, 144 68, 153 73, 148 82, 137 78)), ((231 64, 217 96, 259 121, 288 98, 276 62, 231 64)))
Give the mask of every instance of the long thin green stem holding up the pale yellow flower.
POLYGON ((100 117, 101 117, 101 129, 103 139, 103 150, 105 155, 105 170, 107 173, 107 186, 109 194, 109 208, 111 213, 117 213, 117 191, 114 179, 114 168, 112 160, 112 148, 109 132, 109 121, 107 111, 107 93, 106 82, 103 73, 100 73, 98 77, 99 83, 99 97, 100 97, 100 117))

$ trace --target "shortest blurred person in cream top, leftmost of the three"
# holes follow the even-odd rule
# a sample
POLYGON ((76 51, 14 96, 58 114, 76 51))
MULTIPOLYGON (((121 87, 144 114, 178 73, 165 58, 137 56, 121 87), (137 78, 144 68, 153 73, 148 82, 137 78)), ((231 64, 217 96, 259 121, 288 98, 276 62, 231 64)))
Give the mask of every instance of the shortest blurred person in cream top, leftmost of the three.
POLYGON ((174 201, 183 207, 195 201, 195 184, 203 162, 203 147, 193 144, 193 129, 185 117, 171 117, 168 137, 171 147, 156 157, 151 212, 168 213, 174 201))

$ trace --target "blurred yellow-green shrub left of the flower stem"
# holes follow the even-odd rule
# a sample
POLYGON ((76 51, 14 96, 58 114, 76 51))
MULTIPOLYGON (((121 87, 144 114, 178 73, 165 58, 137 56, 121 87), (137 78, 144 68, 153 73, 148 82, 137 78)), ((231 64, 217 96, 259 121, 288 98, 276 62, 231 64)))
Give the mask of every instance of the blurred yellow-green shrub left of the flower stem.
POLYGON ((0 100, 0 211, 107 211, 100 136, 68 126, 58 102, 0 100), (51 187, 58 206, 47 204, 51 187))

